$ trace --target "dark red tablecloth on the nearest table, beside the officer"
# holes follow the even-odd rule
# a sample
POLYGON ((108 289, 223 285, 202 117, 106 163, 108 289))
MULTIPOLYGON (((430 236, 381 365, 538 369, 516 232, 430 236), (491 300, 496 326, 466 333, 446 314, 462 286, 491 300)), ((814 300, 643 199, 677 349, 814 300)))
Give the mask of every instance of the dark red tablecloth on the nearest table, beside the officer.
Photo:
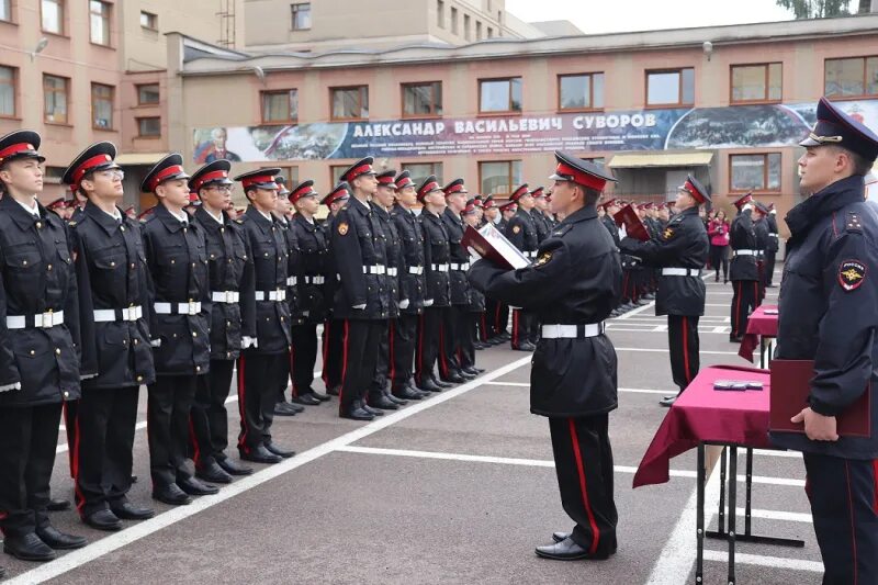
POLYGON ((768 387, 766 370, 716 365, 698 372, 671 407, 634 474, 634 487, 665 483, 671 459, 716 441, 765 448, 768 443, 768 387), (763 390, 713 390, 717 380, 752 380, 763 390))

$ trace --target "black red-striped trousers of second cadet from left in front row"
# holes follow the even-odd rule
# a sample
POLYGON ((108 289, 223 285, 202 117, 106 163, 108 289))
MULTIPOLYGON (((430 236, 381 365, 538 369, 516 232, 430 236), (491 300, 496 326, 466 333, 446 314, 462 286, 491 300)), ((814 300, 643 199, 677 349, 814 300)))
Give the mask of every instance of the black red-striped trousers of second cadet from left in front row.
POLYGON ((127 500, 139 391, 139 386, 82 391, 74 476, 76 506, 83 517, 127 500))

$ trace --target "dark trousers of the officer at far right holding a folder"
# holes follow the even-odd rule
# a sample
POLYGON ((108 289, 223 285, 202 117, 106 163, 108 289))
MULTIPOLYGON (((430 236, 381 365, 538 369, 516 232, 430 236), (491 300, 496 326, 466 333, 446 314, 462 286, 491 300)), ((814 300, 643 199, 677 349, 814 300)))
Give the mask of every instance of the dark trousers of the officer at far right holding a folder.
POLYGON ((803 453, 823 585, 878 583, 878 462, 803 453))

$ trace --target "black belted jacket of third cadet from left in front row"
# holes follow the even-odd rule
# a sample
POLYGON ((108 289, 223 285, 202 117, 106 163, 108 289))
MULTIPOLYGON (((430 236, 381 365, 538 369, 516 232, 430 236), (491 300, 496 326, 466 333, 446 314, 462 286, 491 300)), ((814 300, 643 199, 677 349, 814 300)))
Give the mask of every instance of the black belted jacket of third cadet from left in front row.
POLYGON ((210 356, 211 289, 204 230, 187 215, 187 225, 162 204, 143 226, 144 251, 149 268, 149 335, 158 375, 207 373, 210 356), (194 315, 180 312, 193 307, 194 315), (171 313, 158 313, 156 303, 170 304, 171 313))

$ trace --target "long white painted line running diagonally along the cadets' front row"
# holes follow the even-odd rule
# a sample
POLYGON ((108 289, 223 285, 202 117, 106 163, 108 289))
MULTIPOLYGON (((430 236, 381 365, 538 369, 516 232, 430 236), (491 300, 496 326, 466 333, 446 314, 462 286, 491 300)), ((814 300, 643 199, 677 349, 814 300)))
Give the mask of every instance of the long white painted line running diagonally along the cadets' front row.
POLYGON ((489 382, 496 378, 502 375, 506 375, 507 373, 517 370, 518 368, 530 363, 530 356, 516 360, 511 363, 507 363, 506 365, 498 368, 497 370, 486 373, 481 378, 476 378, 465 384, 462 384, 455 389, 448 390, 442 392, 441 394, 437 394, 432 396, 430 400, 426 402, 421 402, 419 404, 414 404, 412 406, 406 407, 403 410, 396 410, 393 414, 387 414, 386 416, 381 417, 378 420, 373 420, 368 425, 359 427, 350 432, 346 432, 345 435, 337 437, 330 441, 324 442, 308 449, 307 451, 295 455, 292 459, 285 459, 281 463, 275 465, 271 465, 266 468, 252 475, 243 477, 235 483, 223 487, 218 494, 213 496, 201 496, 196 498, 192 504, 188 506, 178 506, 172 508, 166 513, 159 514, 155 518, 150 520, 146 520, 139 522, 137 525, 132 526, 131 528, 126 528, 120 532, 115 532, 111 536, 102 538, 101 540, 95 541, 92 544, 83 549, 79 549, 76 551, 71 551, 63 556, 56 559, 55 561, 48 562, 44 565, 40 565, 36 569, 32 569, 31 571, 26 571, 21 575, 18 575, 13 578, 5 581, 7 585, 35 585, 37 583, 43 583, 50 578, 55 578, 59 575, 67 573, 68 571, 72 571, 83 564, 87 564, 95 559, 100 559, 105 554, 109 554, 122 547, 131 544, 142 538, 148 537, 155 532, 158 532, 162 528, 167 528, 172 526, 177 522, 180 522, 195 514, 205 510, 207 508, 212 508, 217 504, 225 502, 226 499, 230 499, 239 494, 248 492, 254 487, 257 487, 270 480, 273 480, 284 473, 292 471, 296 468, 301 468, 305 463, 309 463, 315 459, 319 459, 326 454, 329 454, 334 451, 339 450, 342 447, 347 447, 352 442, 357 442, 360 439, 369 437, 378 432, 379 430, 385 429, 401 420, 405 420, 406 418, 414 416, 427 408, 432 408, 437 404, 442 404, 444 402, 450 401, 461 394, 465 394, 471 390, 474 390, 485 382, 489 382))

